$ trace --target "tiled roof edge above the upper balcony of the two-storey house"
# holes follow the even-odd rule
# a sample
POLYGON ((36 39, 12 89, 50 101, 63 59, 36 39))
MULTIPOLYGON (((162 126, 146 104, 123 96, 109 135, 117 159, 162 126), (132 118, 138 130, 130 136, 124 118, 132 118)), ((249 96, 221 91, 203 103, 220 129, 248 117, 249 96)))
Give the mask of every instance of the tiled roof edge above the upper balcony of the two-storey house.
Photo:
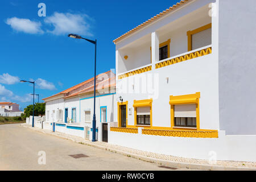
POLYGON ((113 40, 113 42, 114 43, 119 42, 120 40, 126 38, 127 36, 133 34, 134 32, 137 32, 137 31, 141 30, 142 28, 148 26, 149 24, 154 23, 159 18, 162 18, 165 15, 168 15, 169 13, 171 13, 172 11, 176 10, 177 8, 181 7, 181 5, 184 5, 185 3, 189 2, 189 1, 192 1, 192 0, 183 0, 183 1, 177 2, 176 5, 173 5, 173 6, 169 7, 169 9, 166 9, 165 11, 162 11, 162 13, 159 13, 159 14, 155 15, 151 19, 148 19, 146 22, 143 22, 142 24, 133 28, 129 32, 126 32, 125 34, 119 36, 119 38, 113 40))

